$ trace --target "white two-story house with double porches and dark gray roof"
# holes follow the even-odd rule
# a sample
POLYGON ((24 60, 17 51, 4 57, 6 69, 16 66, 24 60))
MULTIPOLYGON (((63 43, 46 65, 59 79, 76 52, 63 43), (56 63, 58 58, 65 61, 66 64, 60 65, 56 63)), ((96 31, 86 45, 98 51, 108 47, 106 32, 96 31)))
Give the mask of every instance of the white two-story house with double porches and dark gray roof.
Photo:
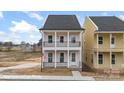
POLYGON ((49 15, 42 33, 42 68, 82 67, 82 32, 75 15, 49 15))

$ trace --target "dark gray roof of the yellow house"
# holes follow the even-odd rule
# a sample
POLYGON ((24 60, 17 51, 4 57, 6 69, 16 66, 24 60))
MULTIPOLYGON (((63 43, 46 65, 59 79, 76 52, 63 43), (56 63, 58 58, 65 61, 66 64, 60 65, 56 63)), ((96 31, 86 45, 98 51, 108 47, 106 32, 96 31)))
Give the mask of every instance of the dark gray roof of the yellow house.
POLYGON ((115 16, 90 16, 98 31, 124 31, 124 21, 115 16))

